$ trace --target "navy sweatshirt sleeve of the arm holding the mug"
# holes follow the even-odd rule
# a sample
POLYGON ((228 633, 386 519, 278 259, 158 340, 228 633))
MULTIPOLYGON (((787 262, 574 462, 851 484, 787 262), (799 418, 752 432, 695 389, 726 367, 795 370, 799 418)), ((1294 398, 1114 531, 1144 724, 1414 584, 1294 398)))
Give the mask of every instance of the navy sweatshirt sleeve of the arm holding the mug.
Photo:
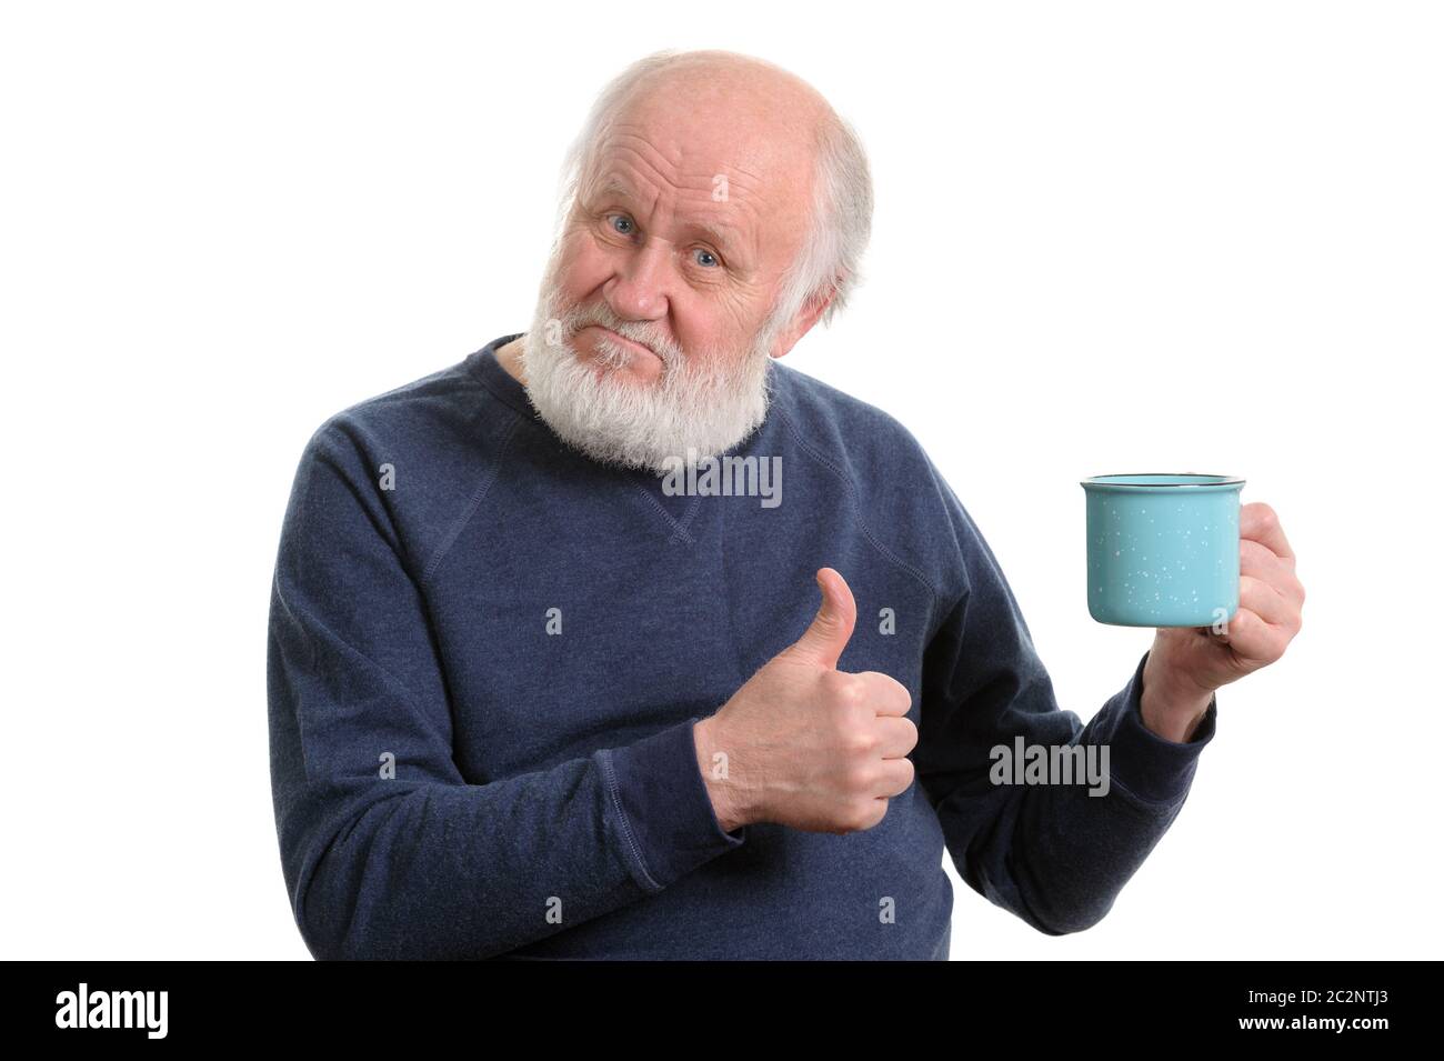
POLYGON ((924 655, 918 780, 973 891, 1048 935, 1082 931, 1108 914, 1183 808, 1217 697, 1187 743, 1155 735, 1139 710, 1145 652, 1086 726, 1061 710, 992 550, 940 476, 936 485, 966 586, 924 655), (1024 746, 1106 746, 1106 791, 993 784, 991 751, 1012 751, 1019 736, 1024 746))

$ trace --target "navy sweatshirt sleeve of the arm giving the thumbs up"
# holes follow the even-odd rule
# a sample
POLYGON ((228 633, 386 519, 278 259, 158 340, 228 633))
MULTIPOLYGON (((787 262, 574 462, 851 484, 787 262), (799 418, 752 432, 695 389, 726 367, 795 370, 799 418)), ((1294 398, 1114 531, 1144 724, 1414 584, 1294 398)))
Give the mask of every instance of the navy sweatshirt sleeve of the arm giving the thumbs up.
POLYGON ((308 443, 271 583, 271 794, 292 911, 318 959, 484 959, 653 895, 741 846, 689 719, 468 784, 417 566, 362 446, 308 443))

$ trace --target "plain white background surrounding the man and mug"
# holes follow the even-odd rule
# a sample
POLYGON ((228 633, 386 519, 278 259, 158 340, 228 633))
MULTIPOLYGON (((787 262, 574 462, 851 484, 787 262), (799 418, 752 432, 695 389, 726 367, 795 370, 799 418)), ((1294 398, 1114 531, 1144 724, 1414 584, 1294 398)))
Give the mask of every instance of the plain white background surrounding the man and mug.
POLYGON ((1298 554, 1301 635, 1110 915, 954 878, 953 957, 1440 957, 1444 19, 1262 0, 7 4, 3 956, 309 957, 264 673, 300 449, 527 326, 562 150, 664 46, 862 134, 869 279, 787 364, 918 436, 1064 707, 1151 638, 1087 615, 1079 479, 1243 475, 1298 554))

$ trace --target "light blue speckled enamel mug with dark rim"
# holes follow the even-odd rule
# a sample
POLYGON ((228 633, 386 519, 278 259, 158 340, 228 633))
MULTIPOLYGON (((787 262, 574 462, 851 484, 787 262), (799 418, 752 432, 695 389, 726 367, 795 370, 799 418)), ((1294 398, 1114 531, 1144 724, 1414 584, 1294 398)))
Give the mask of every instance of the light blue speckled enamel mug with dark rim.
POLYGON ((1243 482, 1196 472, 1083 479, 1089 614, 1115 626, 1232 619, 1243 482))

